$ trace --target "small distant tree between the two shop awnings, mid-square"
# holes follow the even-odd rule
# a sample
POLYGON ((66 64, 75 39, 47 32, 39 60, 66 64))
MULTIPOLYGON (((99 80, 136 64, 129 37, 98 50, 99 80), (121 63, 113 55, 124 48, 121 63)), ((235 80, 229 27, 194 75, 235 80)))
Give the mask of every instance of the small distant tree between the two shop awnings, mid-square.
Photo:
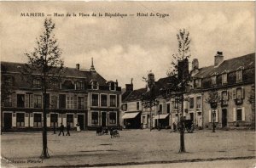
POLYGON ((152 130, 152 107, 157 106, 159 101, 155 92, 154 74, 150 71, 148 73, 148 79, 143 77, 143 81, 146 81, 148 91, 143 94, 142 104, 143 108, 150 109, 150 132, 152 130))

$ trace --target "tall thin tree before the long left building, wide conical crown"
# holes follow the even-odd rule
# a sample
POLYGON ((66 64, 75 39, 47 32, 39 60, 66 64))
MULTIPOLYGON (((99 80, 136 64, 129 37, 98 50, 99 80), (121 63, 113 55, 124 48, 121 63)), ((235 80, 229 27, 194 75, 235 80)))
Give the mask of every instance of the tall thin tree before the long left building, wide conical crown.
POLYGON ((53 30, 55 24, 52 20, 44 20, 43 35, 37 39, 37 47, 32 53, 25 53, 28 61, 22 69, 23 79, 30 82, 32 87, 41 89, 43 93, 43 151, 42 158, 49 158, 47 147, 46 126, 46 91, 61 81, 64 73, 64 62, 61 59, 61 49, 58 46, 53 30))

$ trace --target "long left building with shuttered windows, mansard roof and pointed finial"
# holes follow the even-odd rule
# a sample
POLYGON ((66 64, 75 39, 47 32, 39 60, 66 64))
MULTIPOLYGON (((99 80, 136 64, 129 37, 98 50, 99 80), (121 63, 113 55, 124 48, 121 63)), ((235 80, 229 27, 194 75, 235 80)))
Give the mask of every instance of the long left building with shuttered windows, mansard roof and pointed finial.
MULTIPOLYGON (((41 130, 43 126, 43 93, 40 81, 32 85, 21 76, 24 64, 1 62, 1 128, 3 132, 41 130)), ((47 127, 63 123, 81 129, 97 126, 119 126, 121 87, 117 81, 106 81, 93 63, 90 70, 67 68, 61 82, 47 90, 47 127)))

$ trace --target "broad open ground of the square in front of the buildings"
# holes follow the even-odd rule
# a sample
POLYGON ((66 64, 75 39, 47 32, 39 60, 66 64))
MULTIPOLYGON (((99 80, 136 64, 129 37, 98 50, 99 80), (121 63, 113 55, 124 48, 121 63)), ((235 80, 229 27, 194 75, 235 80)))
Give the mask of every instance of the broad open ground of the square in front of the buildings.
POLYGON ((179 133, 170 130, 126 130, 120 137, 96 132, 48 133, 50 158, 40 160, 42 133, 3 133, 3 166, 102 166, 247 159, 255 156, 255 132, 200 131, 185 134, 187 153, 178 154, 179 133))

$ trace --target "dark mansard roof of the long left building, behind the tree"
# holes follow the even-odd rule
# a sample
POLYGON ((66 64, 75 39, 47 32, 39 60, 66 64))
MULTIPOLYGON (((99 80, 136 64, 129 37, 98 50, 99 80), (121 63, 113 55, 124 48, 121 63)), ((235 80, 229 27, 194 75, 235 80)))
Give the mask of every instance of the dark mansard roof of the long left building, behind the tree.
MULTIPOLYGON (((15 86, 26 87, 26 81, 21 79, 21 76, 18 72, 20 72, 20 68, 24 66, 24 64, 20 63, 12 63, 12 62, 1 62, 1 72, 2 73, 12 73, 12 76, 15 77, 15 86)), ((75 68, 67 68, 65 76, 67 78, 84 78, 84 80, 89 83, 91 80, 98 81, 99 85, 106 85, 106 80, 99 75, 97 72, 93 71, 84 71, 77 70, 75 68)))

